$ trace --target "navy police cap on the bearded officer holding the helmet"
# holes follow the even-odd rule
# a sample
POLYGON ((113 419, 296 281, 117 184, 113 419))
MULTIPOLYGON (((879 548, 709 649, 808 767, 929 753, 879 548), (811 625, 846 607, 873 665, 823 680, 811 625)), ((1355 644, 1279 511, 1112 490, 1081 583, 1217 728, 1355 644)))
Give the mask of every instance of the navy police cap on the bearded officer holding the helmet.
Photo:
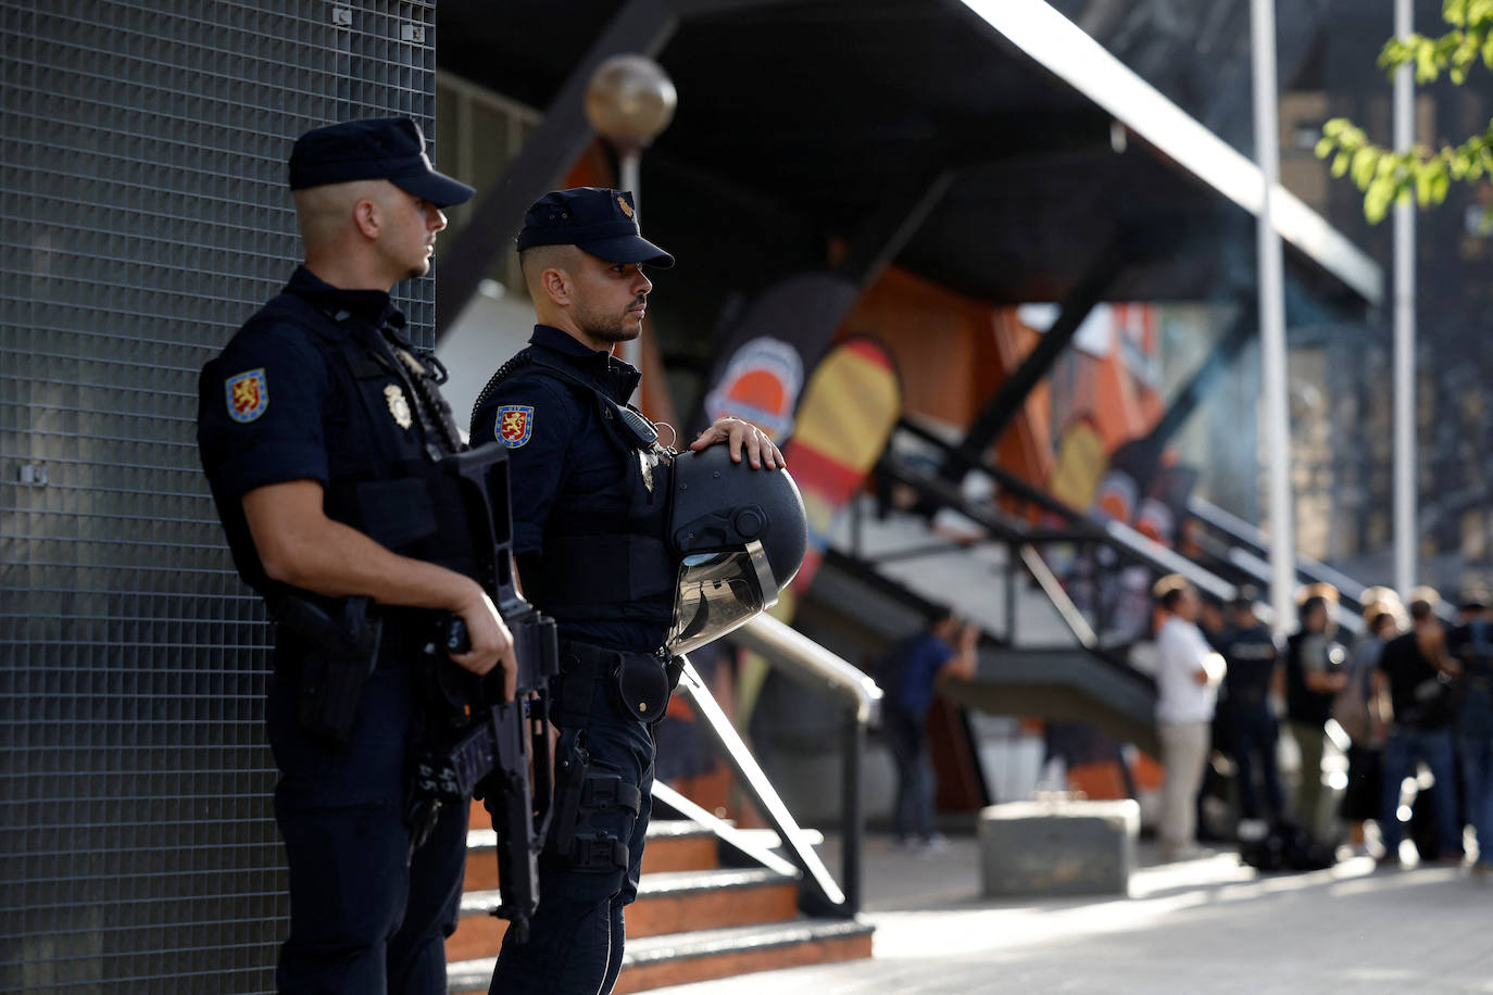
POLYGON ((608 263, 673 266, 673 257, 642 237, 633 195, 605 186, 555 189, 524 215, 518 251, 536 245, 573 245, 608 263))

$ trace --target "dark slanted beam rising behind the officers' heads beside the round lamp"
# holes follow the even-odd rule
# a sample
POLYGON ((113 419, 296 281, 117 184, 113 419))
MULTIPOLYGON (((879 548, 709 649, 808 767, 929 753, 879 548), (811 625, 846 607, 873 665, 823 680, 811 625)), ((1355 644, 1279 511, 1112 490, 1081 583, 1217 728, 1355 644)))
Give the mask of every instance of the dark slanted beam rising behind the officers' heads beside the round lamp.
POLYGON ((529 204, 558 182, 591 140, 593 131, 584 107, 591 73, 605 58, 620 52, 657 55, 673 36, 678 22, 672 3, 627 0, 570 70, 518 157, 482 197, 467 225, 440 252, 436 279, 437 343, 476 292, 493 261, 512 245, 529 204))

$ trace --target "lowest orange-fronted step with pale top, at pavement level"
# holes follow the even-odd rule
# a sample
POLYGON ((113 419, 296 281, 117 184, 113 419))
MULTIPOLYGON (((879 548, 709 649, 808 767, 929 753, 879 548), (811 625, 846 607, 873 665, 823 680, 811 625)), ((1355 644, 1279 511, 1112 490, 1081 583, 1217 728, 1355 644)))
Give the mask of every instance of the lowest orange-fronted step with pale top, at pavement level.
MULTIPOLYGON (((793 919, 633 938, 632 908, 627 914, 627 949, 623 953, 617 995, 870 956, 873 928, 855 919, 793 919)), ((478 958, 452 962, 446 968, 448 994, 485 995, 493 980, 494 961, 496 958, 478 958)))

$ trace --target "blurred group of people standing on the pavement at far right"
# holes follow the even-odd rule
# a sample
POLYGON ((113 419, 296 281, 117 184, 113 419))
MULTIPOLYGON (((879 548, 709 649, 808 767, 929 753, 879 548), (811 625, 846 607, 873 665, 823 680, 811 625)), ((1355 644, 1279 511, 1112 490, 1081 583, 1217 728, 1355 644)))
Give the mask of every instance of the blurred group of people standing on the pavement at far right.
POLYGON ((1354 619, 1336 588, 1308 585, 1296 631, 1278 640, 1253 589, 1215 604, 1172 574, 1154 594, 1165 859, 1232 834, 1241 856, 1268 870, 1347 855, 1399 865, 1408 838, 1420 864, 1468 864, 1493 880, 1486 595, 1465 595, 1451 613, 1430 588, 1403 600, 1369 588, 1354 619), (1282 740, 1297 758, 1285 768, 1282 740), (1220 798, 1233 819, 1208 817, 1220 798))

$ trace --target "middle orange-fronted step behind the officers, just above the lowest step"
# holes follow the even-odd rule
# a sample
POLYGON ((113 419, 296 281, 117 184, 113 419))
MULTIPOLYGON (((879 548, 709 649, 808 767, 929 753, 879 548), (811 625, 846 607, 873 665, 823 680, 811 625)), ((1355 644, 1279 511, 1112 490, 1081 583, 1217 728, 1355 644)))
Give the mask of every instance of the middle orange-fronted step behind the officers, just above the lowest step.
MULTIPOLYGON (((627 908, 627 935, 787 920, 797 914, 797 897, 793 877, 766 868, 649 873, 627 908)), ((461 895, 461 919, 446 940, 448 961, 497 955, 508 929, 508 920, 490 914, 497 904, 496 891, 461 895)))

